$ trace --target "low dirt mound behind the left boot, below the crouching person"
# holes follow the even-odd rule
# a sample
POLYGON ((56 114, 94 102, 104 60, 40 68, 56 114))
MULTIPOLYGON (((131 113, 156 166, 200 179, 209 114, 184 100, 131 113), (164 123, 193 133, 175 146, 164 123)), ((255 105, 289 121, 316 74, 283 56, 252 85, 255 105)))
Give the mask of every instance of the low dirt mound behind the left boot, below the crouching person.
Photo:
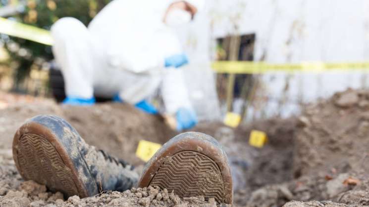
POLYGON ((59 116, 77 129, 90 145, 105 150, 133 165, 143 164, 135 156, 142 139, 165 143, 175 132, 164 120, 124 104, 99 104, 94 107, 59 106, 53 101, 17 104, 0 110, 0 149, 11 149, 13 135, 26 119, 40 114, 59 116))

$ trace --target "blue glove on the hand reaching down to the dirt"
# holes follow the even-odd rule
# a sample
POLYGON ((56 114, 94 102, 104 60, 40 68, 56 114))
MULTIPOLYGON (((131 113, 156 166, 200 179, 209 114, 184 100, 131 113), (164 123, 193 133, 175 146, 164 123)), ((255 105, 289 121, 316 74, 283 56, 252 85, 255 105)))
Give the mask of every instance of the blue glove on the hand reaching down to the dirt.
POLYGON ((195 112, 185 108, 181 108, 177 111, 176 119, 177 119, 177 131, 190 129, 198 123, 195 112))

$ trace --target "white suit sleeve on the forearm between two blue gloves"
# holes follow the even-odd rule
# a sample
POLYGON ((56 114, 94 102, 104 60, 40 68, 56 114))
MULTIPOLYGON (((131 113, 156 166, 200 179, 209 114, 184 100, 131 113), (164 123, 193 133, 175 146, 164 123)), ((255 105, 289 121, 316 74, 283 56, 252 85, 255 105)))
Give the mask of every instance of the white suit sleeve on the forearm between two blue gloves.
POLYGON ((184 74, 181 69, 168 68, 161 84, 166 113, 175 114, 180 108, 192 109, 184 74))

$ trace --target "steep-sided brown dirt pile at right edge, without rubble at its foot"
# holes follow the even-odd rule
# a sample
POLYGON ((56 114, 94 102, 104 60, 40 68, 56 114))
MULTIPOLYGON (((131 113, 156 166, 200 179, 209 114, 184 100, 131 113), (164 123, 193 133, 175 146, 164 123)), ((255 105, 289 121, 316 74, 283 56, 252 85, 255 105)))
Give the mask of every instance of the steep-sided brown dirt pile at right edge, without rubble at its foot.
POLYGON ((296 133, 296 177, 334 168, 338 173, 367 162, 369 91, 347 90, 307 107, 296 133))

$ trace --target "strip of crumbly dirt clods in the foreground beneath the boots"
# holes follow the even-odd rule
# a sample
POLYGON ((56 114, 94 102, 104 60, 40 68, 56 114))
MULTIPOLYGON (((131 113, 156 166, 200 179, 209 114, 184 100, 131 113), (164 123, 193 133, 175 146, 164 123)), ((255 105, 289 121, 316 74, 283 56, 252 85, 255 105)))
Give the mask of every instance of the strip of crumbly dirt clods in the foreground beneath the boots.
MULTIPOLYGON (((15 191, 10 190, 0 197, 1 207, 79 207, 79 206, 109 206, 109 207, 216 207, 214 199, 205 201, 204 197, 179 198, 173 192, 160 188, 132 188, 124 192, 105 192, 94 197, 80 199, 78 196, 63 200, 59 192, 50 193, 44 185, 34 181, 23 182, 15 191)), ((222 205, 230 207, 230 205, 222 205)))

